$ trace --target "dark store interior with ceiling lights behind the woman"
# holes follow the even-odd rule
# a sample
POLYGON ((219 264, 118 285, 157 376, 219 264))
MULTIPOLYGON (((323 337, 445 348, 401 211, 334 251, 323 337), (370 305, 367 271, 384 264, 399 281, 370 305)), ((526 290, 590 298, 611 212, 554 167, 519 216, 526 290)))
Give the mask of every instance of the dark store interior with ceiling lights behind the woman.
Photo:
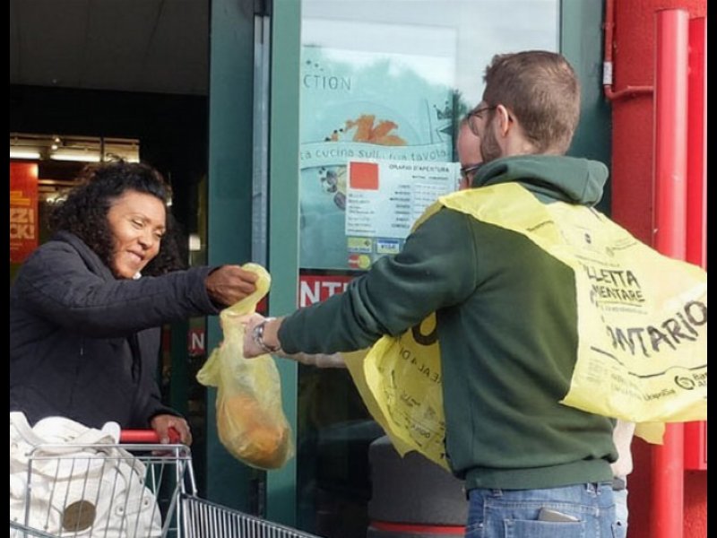
MULTIPOLYGON (((190 263, 205 260, 209 2, 10 1, 10 162, 37 165, 37 241, 52 205, 88 164, 151 164, 173 190, 190 263), (189 239, 192 238, 192 247, 189 239)), ((11 256, 10 280, 20 263, 11 256)), ((203 480, 205 394, 193 369, 204 320, 165 328, 165 396, 189 416, 203 480), (201 325, 201 326, 200 326, 201 325), (172 372, 172 364, 189 371, 172 372)))

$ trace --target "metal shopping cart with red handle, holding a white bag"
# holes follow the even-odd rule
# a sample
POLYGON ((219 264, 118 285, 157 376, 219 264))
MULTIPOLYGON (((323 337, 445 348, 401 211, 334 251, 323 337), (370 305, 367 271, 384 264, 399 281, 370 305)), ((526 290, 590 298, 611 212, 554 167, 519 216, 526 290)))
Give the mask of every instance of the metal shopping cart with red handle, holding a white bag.
POLYGON ((145 430, 120 441, 34 447, 14 520, 11 495, 10 537, 318 538, 198 498, 184 445, 145 430))

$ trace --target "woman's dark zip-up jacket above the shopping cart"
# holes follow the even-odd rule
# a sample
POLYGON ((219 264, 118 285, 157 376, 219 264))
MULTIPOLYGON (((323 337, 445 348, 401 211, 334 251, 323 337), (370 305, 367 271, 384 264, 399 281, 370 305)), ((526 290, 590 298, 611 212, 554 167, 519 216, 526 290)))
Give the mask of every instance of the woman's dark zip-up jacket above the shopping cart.
POLYGON ((91 427, 148 428, 160 402, 160 325, 216 314, 212 268, 117 280, 81 239, 59 232, 10 290, 10 411, 91 427))

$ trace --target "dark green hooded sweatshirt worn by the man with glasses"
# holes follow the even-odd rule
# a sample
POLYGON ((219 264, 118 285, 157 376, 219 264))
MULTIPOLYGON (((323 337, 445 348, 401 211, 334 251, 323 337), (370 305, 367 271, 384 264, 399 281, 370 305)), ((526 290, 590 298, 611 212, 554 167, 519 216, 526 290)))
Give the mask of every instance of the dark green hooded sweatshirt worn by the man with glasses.
MULTIPOLYGON (((593 205, 607 169, 557 156, 499 159, 473 187, 517 182, 543 203, 593 205)), ((572 271, 522 234, 443 209, 347 291, 284 319, 289 353, 351 351, 436 312, 446 453, 466 489, 609 481, 612 421, 558 404, 577 350, 572 271)))

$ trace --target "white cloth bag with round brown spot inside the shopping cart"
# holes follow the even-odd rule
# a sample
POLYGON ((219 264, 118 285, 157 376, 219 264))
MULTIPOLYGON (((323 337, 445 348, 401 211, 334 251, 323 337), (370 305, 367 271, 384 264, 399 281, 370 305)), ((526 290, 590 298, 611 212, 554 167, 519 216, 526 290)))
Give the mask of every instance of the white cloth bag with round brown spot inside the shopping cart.
POLYGON ((160 536, 145 466, 118 441, 114 422, 95 430, 49 417, 30 428, 22 412, 11 412, 10 521, 25 524, 29 512, 27 525, 56 536, 160 536))

